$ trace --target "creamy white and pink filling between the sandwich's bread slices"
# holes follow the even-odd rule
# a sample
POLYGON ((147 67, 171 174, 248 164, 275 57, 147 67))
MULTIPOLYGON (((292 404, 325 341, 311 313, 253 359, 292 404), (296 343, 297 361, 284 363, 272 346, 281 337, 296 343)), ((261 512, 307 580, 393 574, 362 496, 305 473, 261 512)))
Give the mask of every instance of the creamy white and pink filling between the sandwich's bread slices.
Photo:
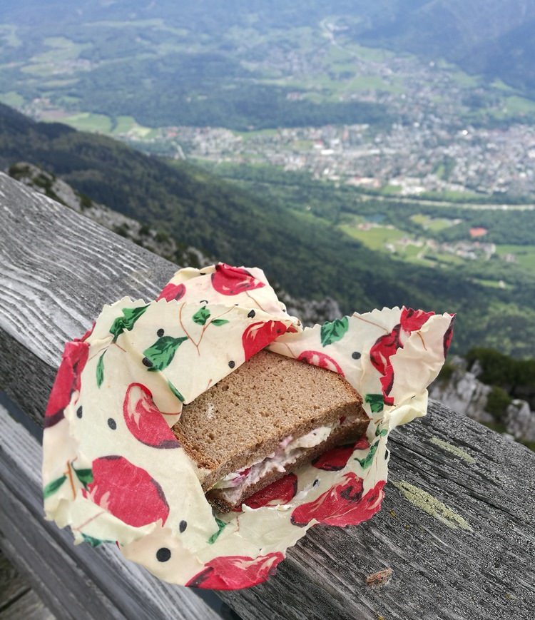
POLYGON ((239 469, 238 472, 227 474, 216 482, 212 489, 217 489, 225 501, 235 503, 243 494, 243 489, 256 484, 274 471, 286 472, 286 467, 295 463, 307 449, 327 441, 334 430, 349 427, 355 424, 357 420, 359 420, 357 416, 341 417, 340 420, 317 427, 297 439, 294 439, 290 434, 279 442, 275 452, 267 454, 267 457, 259 461, 248 464, 239 469))

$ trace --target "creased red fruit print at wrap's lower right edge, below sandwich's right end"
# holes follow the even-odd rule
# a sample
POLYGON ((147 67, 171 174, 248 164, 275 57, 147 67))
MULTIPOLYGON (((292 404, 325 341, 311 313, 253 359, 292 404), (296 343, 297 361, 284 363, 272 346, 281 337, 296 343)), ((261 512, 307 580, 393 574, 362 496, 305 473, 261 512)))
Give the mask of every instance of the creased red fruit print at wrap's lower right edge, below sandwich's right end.
POLYGON ((381 507, 385 481, 379 480, 362 497, 362 478, 353 472, 344 476, 344 482, 335 484, 314 502, 301 504, 291 516, 292 524, 305 527, 312 519, 326 525, 357 525, 370 519, 381 507))

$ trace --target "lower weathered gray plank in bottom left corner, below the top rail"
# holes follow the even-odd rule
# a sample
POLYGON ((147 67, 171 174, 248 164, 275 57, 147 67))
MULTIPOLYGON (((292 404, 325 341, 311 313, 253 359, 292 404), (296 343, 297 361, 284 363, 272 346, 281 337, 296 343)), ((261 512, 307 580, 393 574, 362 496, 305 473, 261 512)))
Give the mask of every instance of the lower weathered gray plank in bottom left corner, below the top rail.
POLYGON ((0 406, 0 547, 46 606, 76 620, 218 620, 195 592, 169 586, 114 545, 74 547, 71 534, 43 518, 42 449, 0 406))

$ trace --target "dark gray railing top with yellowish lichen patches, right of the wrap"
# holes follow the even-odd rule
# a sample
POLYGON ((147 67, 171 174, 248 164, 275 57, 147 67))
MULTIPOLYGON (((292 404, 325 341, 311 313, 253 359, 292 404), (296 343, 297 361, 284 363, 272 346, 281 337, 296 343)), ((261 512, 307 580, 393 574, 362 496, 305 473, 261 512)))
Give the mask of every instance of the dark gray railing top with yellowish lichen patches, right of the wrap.
POLYGON ((259 607, 267 617, 264 601, 277 595, 276 609, 288 618, 533 617, 534 454, 438 403, 426 418, 396 430, 390 447, 381 512, 355 528, 315 528, 290 550, 270 582, 225 595, 244 619, 258 617, 259 607), (437 439, 475 462, 455 457, 437 439), (394 481, 407 481, 444 502, 472 531, 451 527, 454 522, 449 527, 408 502, 394 481), (365 584, 367 575, 386 567, 393 569, 388 584, 377 589, 365 584), (300 606, 290 615, 286 601, 292 596, 300 606))

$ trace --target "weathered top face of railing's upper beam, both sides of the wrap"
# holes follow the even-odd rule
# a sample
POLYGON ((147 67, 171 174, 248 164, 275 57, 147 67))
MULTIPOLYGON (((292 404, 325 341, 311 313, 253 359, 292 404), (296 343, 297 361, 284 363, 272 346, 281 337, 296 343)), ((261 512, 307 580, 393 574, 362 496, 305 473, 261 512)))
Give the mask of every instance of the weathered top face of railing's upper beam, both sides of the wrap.
MULTIPOLYGON (((27 254, 32 244, 48 248, 39 253, 39 268, 25 259, 25 273, 11 250, 4 252, 0 287, 14 293, 7 301, 0 298, 0 333, 4 330, 6 340, 21 345, 17 359, 20 351, 29 350, 32 372, 49 377, 64 340, 80 335, 103 303, 132 291, 149 298, 175 268, 21 190, 9 178, 0 176, 0 190, 0 204, 19 205, 9 210, 9 227, 18 218, 19 228, 6 233, 16 256, 27 254), (37 220, 44 230, 32 228, 37 220), (91 244, 98 238, 103 248, 102 285, 84 226, 91 244), (61 235, 69 229, 77 243, 66 250, 61 235), (131 273, 145 275, 132 283, 131 273), (36 318, 40 305, 50 311, 44 325, 36 318), (46 331, 46 337, 36 342, 33 331, 46 331)), ((7 372, 2 363, 0 382, 7 372)), ((28 372, 21 364, 6 389, 39 417, 43 395, 17 387, 28 372)), ((243 619, 255 620, 531 618, 534 454, 434 402, 426 418, 394 431, 389 447, 386 498, 370 522, 345 529, 315 527, 289 550, 266 584, 220 597, 243 619), (374 588, 365 583, 368 575, 386 567, 393 569, 387 584, 374 588)))

